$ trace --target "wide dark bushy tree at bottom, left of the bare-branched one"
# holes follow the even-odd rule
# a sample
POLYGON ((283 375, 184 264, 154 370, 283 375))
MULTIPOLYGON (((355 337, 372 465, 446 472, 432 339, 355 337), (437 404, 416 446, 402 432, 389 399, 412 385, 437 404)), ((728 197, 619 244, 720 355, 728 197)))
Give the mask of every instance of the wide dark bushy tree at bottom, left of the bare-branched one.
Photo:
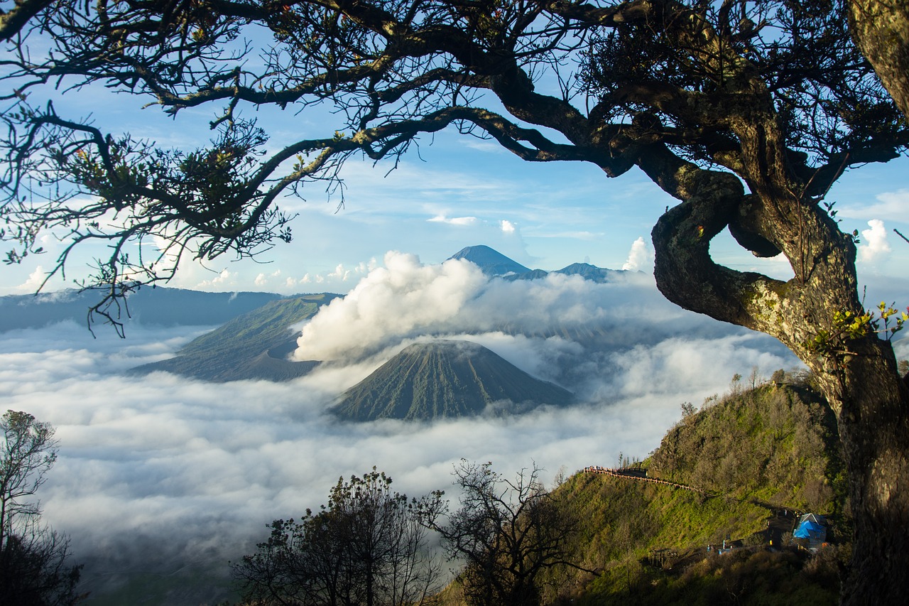
POLYGON ((441 493, 408 502, 391 478, 372 470, 339 479, 328 505, 302 520, 275 520, 268 540, 233 566, 257 604, 404 606, 438 589, 419 510, 441 493))

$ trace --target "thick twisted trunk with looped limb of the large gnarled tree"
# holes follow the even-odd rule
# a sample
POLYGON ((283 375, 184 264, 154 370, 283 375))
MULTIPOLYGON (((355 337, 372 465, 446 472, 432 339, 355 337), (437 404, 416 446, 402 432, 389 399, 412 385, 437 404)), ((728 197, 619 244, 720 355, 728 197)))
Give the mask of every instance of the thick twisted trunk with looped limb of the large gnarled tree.
POLYGON ((842 603, 903 603, 909 595, 909 389, 889 342, 873 332, 850 338, 837 328, 837 314, 864 313, 852 239, 814 202, 745 194, 731 175, 693 168, 665 150, 652 155, 645 164, 664 182, 678 176, 674 190, 684 195, 654 227, 657 286, 683 308, 779 338, 814 370, 837 415, 849 472, 853 565, 842 603), (782 250, 795 277, 783 282, 715 264, 710 239, 730 223, 782 250))

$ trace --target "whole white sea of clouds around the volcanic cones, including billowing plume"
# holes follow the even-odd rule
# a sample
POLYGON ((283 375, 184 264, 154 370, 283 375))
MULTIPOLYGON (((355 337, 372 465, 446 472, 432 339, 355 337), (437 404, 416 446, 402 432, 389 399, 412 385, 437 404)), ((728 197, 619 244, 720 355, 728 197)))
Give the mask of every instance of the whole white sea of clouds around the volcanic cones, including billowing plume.
POLYGON ((682 402, 724 392, 736 373, 797 364, 773 338, 674 307, 643 273, 607 284, 490 281, 465 262, 425 266, 398 253, 302 328, 296 357, 334 361, 286 383, 125 375, 206 327, 136 326, 121 340, 63 323, 0 336, 3 406, 57 429, 59 460, 40 497, 45 520, 88 563, 86 588, 187 565, 226 573, 265 539, 266 523, 315 509, 339 476, 373 466, 417 495, 450 490, 461 458, 508 474, 535 461, 547 481, 613 465, 620 453, 643 459, 682 402), (584 325, 594 336, 546 334, 584 325), (581 403, 431 425, 325 415, 344 389, 427 335, 478 342, 581 403))

